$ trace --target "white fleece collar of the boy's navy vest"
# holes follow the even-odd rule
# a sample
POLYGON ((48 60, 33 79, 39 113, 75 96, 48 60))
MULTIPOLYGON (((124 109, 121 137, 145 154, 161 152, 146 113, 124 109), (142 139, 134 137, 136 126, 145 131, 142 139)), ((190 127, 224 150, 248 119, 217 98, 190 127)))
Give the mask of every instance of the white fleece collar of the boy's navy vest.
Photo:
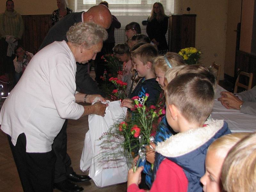
POLYGON ((177 133, 170 138, 157 144, 156 152, 166 157, 184 155, 202 146, 223 126, 223 120, 206 121, 205 127, 190 129, 186 132, 177 133))

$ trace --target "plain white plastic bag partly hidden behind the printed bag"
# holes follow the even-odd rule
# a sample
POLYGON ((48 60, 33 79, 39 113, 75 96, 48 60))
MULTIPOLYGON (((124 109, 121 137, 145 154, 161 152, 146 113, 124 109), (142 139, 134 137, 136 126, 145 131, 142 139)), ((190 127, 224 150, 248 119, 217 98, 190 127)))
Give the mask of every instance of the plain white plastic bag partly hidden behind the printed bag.
POLYGON ((84 148, 83 148, 82 156, 80 159, 81 171, 89 170, 91 162, 92 162, 92 143, 91 143, 90 130, 88 130, 85 134, 84 148))

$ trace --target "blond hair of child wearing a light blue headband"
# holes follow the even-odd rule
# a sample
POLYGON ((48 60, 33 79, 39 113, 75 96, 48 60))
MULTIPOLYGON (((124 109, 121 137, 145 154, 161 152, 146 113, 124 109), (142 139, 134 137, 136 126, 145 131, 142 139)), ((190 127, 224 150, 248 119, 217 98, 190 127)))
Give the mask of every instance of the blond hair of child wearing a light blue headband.
POLYGON ((159 68, 162 71, 167 71, 172 67, 185 65, 182 57, 174 52, 167 52, 165 55, 159 55, 154 59, 154 69, 159 68))

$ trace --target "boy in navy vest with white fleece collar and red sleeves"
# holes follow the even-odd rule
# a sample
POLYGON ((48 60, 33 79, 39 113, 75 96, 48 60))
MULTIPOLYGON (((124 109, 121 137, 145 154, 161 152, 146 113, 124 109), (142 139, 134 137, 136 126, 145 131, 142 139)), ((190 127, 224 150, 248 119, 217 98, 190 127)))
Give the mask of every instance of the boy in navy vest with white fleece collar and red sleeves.
MULTIPOLYGON (((181 68, 182 70, 182 68, 181 68)), ((205 154, 213 140, 231 133, 223 120, 205 122, 210 115, 214 88, 213 74, 185 73, 175 77, 165 88, 166 118, 176 135, 156 147, 155 181, 150 191, 202 192, 200 178, 205 172, 205 154)), ((128 172, 127 191, 138 188, 140 172, 128 172)))

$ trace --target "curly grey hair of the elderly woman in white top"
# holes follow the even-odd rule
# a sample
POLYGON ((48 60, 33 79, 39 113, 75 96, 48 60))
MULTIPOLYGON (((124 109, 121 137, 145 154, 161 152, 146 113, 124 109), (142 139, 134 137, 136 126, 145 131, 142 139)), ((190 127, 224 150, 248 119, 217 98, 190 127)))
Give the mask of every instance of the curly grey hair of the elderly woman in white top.
POLYGON ((75 23, 67 32, 67 39, 74 45, 82 43, 84 48, 88 48, 100 41, 105 41, 108 38, 106 29, 96 23, 75 23))

